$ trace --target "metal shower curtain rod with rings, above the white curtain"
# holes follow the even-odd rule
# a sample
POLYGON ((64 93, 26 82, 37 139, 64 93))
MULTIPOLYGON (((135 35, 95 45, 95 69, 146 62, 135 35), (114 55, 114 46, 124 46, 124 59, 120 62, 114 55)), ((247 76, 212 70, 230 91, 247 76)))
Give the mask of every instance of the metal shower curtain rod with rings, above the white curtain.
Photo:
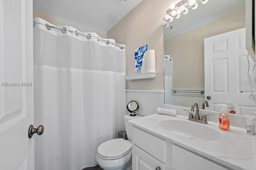
MULTIPOLYGON (((44 25, 42 23, 36 23, 35 21, 33 21, 33 27, 35 27, 36 24, 44 25)), ((75 33, 76 36, 84 35, 84 36, 86 36, 87 39, 90 39, 91 37, 94 37, 94 36, 92 36, 90 34, 85 34, 85 33, 79 32, 79 31, 68 30, 65 27, 61 28, 61 27, 52 26, 52 25, 49 25, 48 23, 46 23, 44 26, 46 27, 47 30, 51 30, 51 28, 55 28, 55 29, 60 29, 62 31, 62 33, 66 33, 66 31, 69 31, 69 32, 75 33)), ((100 41, 106 42, 107 45, 112 44, 112 45, 116 45, 116 46, 120 47, 120 49, 125 49, 124 46, 116 44, 116 43, 111 43, 109 40, 105 40, 105 39, 102 39, 102 38, 99 38, 99 37, 94 37, 94 38, 98 39, 98 41, 100 40, 100 41)))

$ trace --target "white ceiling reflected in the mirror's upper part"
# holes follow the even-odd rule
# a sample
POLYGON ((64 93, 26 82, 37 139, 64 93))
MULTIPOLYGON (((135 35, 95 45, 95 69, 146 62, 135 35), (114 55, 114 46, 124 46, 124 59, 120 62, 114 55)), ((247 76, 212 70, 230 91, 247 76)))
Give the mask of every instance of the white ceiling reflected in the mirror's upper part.
POLYGON ((188 14, 180 14, 180 18, 164 27, 164 39, 170 39, 201 25, 214 21, 222 16, 245 8, 246 0, 208 0, 206 4, 198 2, 198 8, 188 10, 188 14), (172 29, 170 27, 172 26, 172 29))

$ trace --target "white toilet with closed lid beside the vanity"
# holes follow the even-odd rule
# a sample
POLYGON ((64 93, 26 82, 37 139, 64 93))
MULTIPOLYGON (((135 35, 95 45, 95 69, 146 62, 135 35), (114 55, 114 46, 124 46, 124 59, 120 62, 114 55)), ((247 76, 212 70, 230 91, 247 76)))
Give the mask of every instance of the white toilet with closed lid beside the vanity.
POLYGON ((141 116, 124 116, 128 140, 112 139, 98 147, 96 160, 104 170, 132 170, 132 124, 128 122, 141 116))

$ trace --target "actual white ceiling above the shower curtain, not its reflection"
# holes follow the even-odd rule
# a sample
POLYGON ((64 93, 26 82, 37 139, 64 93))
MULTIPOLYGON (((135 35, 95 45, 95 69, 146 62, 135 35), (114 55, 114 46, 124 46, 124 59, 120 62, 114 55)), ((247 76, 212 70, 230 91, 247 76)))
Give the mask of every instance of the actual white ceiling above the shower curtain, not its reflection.
POLYGON ((142 0, 33 0, 33 8, 82 25, 110 30, 142 0))

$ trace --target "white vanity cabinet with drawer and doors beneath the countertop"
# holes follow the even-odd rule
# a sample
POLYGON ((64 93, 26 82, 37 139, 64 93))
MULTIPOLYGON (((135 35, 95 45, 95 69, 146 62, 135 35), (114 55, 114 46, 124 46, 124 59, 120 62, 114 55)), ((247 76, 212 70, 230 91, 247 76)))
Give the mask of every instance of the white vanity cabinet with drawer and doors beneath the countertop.
POLYGON ((212 160, 132 127, 132 170, 230 170, 212 160))

